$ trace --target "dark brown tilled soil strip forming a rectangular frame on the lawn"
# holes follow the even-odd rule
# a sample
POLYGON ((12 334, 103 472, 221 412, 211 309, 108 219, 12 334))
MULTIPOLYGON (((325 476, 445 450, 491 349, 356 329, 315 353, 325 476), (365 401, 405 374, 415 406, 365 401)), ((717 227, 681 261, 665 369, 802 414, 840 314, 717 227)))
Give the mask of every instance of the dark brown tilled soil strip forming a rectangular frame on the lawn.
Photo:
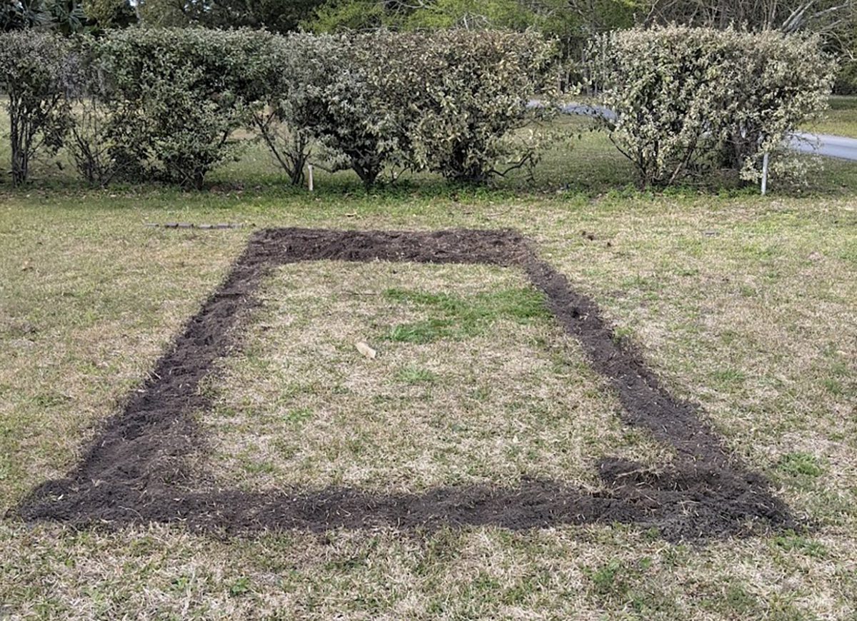
POLYGON ((189 319, 149 379, 133 391, 80 465, 48 481, 21 503, 26 520, 75 525, 184 522, 215 533, 267 529, 433 528, 495 524, 538 528, 560 523, 621 522, 658 528, 669 540, 752 534, 794 528, 788 507, 764 477, 746 469, 700 417, 698 406, 671 397, 642 356, 617 343, 596 303, 538 260, 511 231, 432 233, 272 229, 255 233, 231 272, 189 319), (577 337, 598 373, 614 385, 626 424, 673 445, 674 465, 662 471, 604 458, 602 491, 559 481, 519 487, 449 487, 423 494, 376 495, 356 489, 201 492, 186 456, 204 443, 192 414, 208 406, 199 391, 213 363, 237 344, 242 311, 255 305, 261 278, 274 266, 307 260, 488 263, 519 266, 544 291, 560 324, 577 337))

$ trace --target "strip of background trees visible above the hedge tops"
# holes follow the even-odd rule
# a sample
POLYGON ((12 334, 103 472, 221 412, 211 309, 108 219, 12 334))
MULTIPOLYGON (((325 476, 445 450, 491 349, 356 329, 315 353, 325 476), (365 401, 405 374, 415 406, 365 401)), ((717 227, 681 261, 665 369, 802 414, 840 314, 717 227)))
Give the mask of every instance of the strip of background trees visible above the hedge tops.
POLYGON ((837 92, 857 92, 857 0, 0 0, 0 30, 99 31, 156 27, 250 27, 315 33, 378 27, 423 30, 533 28, 560 43, 573 67, 600 33, 635 26, 746 28, 819 34, 842 59, 837 92))

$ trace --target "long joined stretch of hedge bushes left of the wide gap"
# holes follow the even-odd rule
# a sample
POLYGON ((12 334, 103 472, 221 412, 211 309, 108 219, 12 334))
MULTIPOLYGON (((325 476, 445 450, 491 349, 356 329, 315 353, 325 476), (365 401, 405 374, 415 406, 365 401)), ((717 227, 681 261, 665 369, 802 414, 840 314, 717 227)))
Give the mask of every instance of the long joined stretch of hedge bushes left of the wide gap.
POLYGON ((64 145, 93 184, 200 188, 240 128, 255 129, 295 183, 310 145, 322 166, 367 185, 391 164, 482 181, 501 163, 533 161, 508 139, 557 69, 536 33, 129 28, 74 42, 5 33, 0 50, 16 183, 40 147, 64 145))

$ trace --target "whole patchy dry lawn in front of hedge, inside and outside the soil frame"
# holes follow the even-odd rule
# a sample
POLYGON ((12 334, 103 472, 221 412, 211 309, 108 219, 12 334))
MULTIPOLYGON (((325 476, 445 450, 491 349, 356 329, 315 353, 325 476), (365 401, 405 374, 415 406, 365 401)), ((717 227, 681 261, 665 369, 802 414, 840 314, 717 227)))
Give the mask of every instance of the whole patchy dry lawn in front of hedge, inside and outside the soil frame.
MULTIPOLYGON (((571 125, 570 128, 583 129, 571 125)), ((0 515, 75 468, 254 231, 518 230, 602 308, 800 532, 680 542, 620 524, 290 529, 0 521, 0 618, 857 618, 857 169, 812 189, 643 194, 596 134, 493 188, 283 188, 250 149, 202 193, 0 195, 0 515), (184 230, 147 223, 230 222, 184 230)), ((315 261, 262 279, 188 457, 213 487, 424 493, 668 446, 516 268, 315 261), (370 360, 354 343, 378 352, 370 360)))

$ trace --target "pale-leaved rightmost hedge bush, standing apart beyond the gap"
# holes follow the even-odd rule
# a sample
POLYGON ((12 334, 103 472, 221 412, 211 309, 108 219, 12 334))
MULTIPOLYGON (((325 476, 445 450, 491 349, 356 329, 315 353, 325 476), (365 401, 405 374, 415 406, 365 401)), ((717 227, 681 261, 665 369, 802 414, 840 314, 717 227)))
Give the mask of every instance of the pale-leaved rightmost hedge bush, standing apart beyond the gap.
POLYGON ((722 166, 757 179, 764 153, 824 110, 835 65, 814 36, 670 26, 596 38, 589 69, 645 187, 722 166))

